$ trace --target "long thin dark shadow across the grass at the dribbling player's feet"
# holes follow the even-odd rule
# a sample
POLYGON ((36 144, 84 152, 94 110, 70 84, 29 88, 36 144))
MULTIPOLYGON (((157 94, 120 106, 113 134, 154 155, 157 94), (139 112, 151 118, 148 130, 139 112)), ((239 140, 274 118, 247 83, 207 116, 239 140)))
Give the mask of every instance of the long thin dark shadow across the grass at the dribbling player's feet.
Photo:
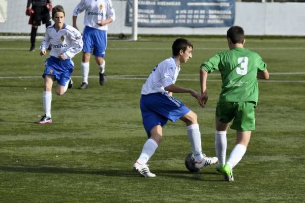
MULTIPOLYGON (((55 167, 28 167, 28 166, 0 166, 0 170, 9 172, 33 172, 33 173, 69 173, 69 174, 88 174, 111 177, 139 177, 133 170, 87 170, 79 168, 55 168, 55 167)), ((168 177, 176 179, 188 179, 196 181, 222 181, 217 172, 195 172, 181 170, 155 170, 158 177, 168 177), (191 176, 190 176, 191 175, 191 176), (207 177, 208 175, 208 177, 207 177), (216 179, 217 176, 217 179, 216 179)))

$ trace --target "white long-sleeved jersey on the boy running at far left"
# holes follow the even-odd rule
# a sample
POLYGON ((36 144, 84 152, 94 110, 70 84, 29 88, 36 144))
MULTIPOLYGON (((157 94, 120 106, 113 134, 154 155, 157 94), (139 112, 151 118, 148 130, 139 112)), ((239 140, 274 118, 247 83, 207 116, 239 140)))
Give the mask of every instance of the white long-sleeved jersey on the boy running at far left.
POLYGON ((57 58, 59 54, 63 54, 66 59, 71 59, 83 48, 81 33, 67 24, 59 31, 55 29, 55 25, 47 27, 40 49, 47 49, 49 44, 52 45, 50 55, 57 58))

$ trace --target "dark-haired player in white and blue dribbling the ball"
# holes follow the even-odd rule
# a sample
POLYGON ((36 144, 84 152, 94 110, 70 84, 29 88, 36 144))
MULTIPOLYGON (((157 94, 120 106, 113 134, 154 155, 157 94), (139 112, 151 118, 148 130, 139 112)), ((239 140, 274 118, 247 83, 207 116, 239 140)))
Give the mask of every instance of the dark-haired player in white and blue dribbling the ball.
POLYGON ((175 85, 180 64, 192 58, 192 50, 191 42, 183 38, 176 39, 172 45, 173 56, 158 64, 142 86, 140 108, 148 139, 133 167, 144 177, 156 177, 149 171, 146 163, 157 150, 163 136, 162 127, 168 120, 181 120, 186 123, 196 168, 203 168, 218 161, 217 157, 210 158, 202 154, 196 113, 172 97, 172 93, 190 93, 200 105, 205 104, 201 102, 203 99, 196 91, 175 85))

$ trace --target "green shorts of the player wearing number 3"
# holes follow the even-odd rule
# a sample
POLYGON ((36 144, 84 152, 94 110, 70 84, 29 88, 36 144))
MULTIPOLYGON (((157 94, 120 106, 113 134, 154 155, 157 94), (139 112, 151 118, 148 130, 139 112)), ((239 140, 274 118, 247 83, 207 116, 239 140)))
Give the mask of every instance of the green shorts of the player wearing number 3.
POLYGON ((254 102, 224 102, 219 101, 216 107, 216 117, 222 123, 230 123, 231 129, 237 131, 255 130, 254 102))

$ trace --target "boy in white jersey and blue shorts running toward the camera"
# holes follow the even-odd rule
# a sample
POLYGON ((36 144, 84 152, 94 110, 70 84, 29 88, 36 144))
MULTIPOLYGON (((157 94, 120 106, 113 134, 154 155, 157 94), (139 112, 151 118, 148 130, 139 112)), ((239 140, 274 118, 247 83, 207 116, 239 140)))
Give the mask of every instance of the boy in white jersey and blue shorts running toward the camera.
POLYGON ((51 101, 52 84, 57 81, 56 94, 61 96, 65 94, 68 88, 72 88, 71 74, 74 68, 72 57, 79 53, 83 48, 81 34, 74 27, 64 24, 65 11, 60 5, 52 10, 52 20, 54 25, 47 28, 44 40, 40 46, 40 54, 46 55, 46 49, 49 44, 52 45, 50 57, 45 62, 46 69, 43 73, 44 92, 43 107, 45 115, 38 124, 52 123, 51 119, 51 101))

